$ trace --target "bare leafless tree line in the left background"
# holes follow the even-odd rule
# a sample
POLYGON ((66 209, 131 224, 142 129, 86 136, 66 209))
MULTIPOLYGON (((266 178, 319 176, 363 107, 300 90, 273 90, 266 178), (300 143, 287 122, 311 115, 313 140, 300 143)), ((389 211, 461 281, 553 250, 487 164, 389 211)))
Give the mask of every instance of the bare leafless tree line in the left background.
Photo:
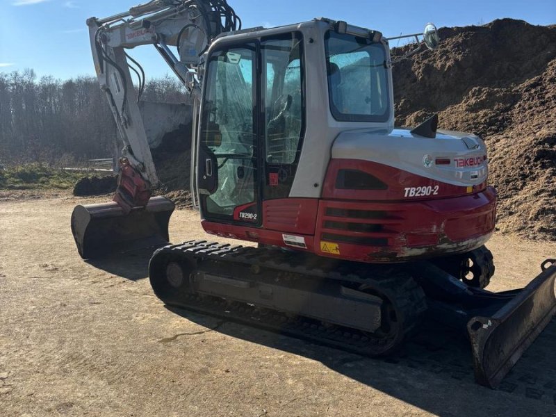
MULTIPOLYGON (((152 79, 141 99, 181 102, 183 85, 170 76, 152 79)), ((95 77, 0 72, 0 164, 111 158, 116 146, 113 115, 95 77)))

